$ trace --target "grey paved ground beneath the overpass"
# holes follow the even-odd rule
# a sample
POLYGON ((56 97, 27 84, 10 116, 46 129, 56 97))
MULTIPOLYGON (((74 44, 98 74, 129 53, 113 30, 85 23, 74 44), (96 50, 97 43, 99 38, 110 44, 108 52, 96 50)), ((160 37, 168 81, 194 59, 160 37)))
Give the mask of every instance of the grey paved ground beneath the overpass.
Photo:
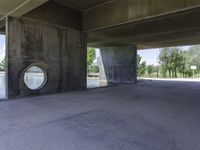
POLYGON ((199 150, 200 83, 143 81, 0 102, 1 150, 199 150))

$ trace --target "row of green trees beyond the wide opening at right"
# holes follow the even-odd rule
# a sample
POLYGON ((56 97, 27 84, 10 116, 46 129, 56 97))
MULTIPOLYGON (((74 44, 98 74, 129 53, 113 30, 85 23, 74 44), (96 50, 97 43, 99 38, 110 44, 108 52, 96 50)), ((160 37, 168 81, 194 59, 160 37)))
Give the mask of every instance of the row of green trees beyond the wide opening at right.
POLYGON ((200 72, 200 45, 191 46, 188 50, 179 47, 162 48, 158 56, 158 66, 147 65, 137 56, 138 75, 164 78, 199 77, 200 72), (191 66, 196 66, 193 71, 191 66))

